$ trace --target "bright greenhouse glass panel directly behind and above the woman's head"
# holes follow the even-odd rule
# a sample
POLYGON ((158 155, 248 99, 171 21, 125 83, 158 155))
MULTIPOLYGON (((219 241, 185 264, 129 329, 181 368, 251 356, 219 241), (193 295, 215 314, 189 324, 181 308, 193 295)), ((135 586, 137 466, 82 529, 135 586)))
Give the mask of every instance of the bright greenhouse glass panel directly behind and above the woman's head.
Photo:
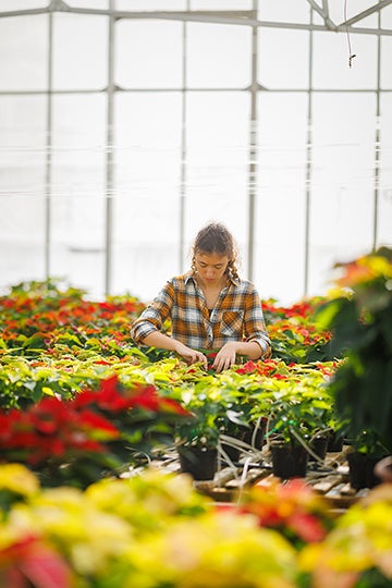
POLYGON ((189 93, 186 110, 186 238, 209 221, 233 231, 246 268, 249 96, 189 93))

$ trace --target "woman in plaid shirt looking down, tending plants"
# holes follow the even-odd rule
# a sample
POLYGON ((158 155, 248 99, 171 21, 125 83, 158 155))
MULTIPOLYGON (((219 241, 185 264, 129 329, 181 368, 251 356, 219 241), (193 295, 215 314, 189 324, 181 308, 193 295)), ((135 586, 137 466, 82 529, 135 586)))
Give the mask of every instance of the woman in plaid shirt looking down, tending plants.
POLYGON ((169 280, 132 324, 134 341, 173 351, 206 368, 200 350, 218 350, 211 366, 217 372, 230 368, 237 355, 270 357, 260 297, 250 282, 238 278, 231 233, 210 223, 198 232, 192 253, 191 271, 169 280), (169 318, 171 336, 160 331, 169 318))

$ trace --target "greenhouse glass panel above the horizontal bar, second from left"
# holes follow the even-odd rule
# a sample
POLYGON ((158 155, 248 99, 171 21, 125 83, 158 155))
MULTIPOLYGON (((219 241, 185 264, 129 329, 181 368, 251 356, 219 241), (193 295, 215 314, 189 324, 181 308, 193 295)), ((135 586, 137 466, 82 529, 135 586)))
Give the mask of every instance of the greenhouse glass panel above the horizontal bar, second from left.
POLYGON ((108 22, 106 16, 54 14, 54 89, 100 89, 107 86, 108 22))

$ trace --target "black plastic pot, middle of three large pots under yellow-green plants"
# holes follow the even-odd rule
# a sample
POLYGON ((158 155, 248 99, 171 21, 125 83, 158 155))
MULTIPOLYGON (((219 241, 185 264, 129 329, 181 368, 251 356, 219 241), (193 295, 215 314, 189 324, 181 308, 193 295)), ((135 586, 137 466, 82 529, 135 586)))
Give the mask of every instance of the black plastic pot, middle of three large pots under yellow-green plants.
POLYGON ((272 473, 281 479, 305 478, 309 454, 302 445, 271 444, 272 473))

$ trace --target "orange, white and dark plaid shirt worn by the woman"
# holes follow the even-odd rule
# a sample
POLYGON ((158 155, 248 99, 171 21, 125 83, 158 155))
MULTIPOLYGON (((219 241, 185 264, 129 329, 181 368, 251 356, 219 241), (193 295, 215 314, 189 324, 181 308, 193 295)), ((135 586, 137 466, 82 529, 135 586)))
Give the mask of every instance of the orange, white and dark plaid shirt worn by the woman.
POLYGON ((271 355, 261 301, 247 280, 228 280, 209 314, 206 298, 191 272, 172 278, 133 322, 133 340, 140 343, 168 319, 171 335, 194 350, 218 350, 229 341, 256 341, 261 357, 271 355))

